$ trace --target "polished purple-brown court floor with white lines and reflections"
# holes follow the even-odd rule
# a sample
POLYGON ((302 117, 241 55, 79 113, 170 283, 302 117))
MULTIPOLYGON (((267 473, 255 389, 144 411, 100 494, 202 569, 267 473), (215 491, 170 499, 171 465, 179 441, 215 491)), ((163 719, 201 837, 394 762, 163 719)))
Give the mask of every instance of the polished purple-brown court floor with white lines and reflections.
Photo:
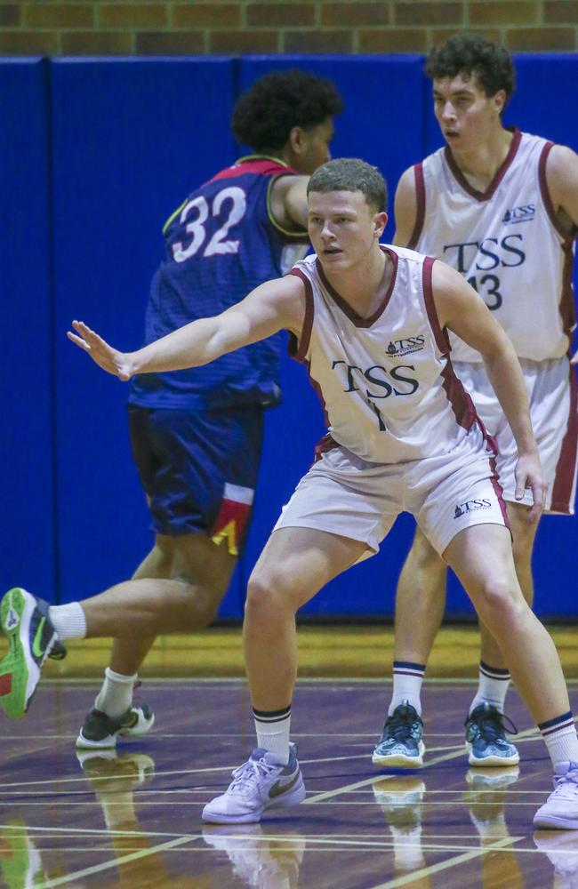
POLYGON ((253 746, 245 683, 149 680, 137 694, 156 711, 152 733, 77 753, 96 687, 44 681, 25 719, 0 724, 3 887, 578 887, 578 831, 532 827, 550 762, 516 693, 519 769, 469 769, 462 723, 473 685, 434 681, 426 767, 387 773, 370 755, 390 686, 301 681, 293 740, 305 803, 261 825, 204 827, 202 806, 253 746))

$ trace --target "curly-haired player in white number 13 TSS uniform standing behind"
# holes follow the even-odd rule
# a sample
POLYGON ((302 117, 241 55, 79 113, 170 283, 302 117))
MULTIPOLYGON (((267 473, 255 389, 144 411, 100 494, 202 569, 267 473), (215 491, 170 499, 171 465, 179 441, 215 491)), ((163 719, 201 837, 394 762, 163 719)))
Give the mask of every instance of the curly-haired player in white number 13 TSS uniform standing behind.
MULTIPOLYGON (((578 409, 569 359, 574 326, 572 263, 578 227, 578 156, 502 125, 514 89, 508 52, 481 37, 454 36, 426 68, 446 148, 405 171, 397 187, 394 243, 444 260, 478 291, 508 333, 522 365, 549 512, 572 514, 578 409)), ((482 356, 452 337, 454 370, 495 436, 518 581, 532 605, 538 521, 530 493, 515 496, 516 443, 482 356)), ((421 681, 442 620, 446 562, 418 526, 397 587, 394 687, 376 765, 422 765, 421 681)), ((466 721, 470 765, 516 765, 502 724, 510 672, 480 624, 478 692, 466 721)))

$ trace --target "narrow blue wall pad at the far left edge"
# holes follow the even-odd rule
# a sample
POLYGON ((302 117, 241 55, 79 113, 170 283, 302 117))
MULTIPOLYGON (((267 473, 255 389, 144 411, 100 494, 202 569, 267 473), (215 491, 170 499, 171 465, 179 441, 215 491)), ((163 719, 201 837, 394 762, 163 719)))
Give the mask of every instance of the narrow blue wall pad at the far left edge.
POLYGON ((46 63, 0 60, 0 590, 53 598, 52 314, 46 63))

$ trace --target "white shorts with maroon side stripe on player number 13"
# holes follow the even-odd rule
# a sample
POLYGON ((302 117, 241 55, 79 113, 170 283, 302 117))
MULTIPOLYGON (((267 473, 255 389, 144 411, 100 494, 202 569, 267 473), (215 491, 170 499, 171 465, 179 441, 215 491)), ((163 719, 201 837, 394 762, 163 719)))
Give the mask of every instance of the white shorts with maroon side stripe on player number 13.
MULTIPOLYGON (((548 485, 546 511, 574 514, 576 455, 578 453, 578 404, 576 374, 566 357, 549 361, 520 359, 530 403, 532 427, 538 443, 542 471, 548 485)), ((454 371, 470 392, 480 420, 498 445, 496 466, 505 501, 532 503, 526 491, 522 501, 514 494, 514 467, 518 451, 514 436, 483 363, 456 362, 454 371)))

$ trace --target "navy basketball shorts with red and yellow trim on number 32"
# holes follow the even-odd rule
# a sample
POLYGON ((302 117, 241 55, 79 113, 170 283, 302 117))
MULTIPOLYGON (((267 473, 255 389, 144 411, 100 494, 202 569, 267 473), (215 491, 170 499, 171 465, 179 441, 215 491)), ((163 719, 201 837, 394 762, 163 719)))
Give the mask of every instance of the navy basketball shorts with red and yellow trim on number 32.
POLYGON ((128 405, 132 456, 155 533, 203 532, 238 556, 253 505, 262 413, 258 404, 213 411, 128 405))

